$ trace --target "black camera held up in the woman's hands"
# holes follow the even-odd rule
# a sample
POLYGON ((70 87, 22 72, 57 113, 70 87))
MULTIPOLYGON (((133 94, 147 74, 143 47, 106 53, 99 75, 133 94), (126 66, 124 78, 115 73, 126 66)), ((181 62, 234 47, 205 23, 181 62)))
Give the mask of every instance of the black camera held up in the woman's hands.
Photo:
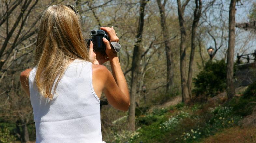
POLYGON ((86 43, 87 43, 87 47, 89 48, 90 46, 90 41, 92 41, 93 43, 93 50, 96 51, 105 51, 106 49, 106 45, 103 42, 103 37, 106 38, 108 41, 110 40, 108 37, 107 32, 105 32, 104 30, 92 30, 91 31, 91 36, 92 39, 85 39, 86 43))

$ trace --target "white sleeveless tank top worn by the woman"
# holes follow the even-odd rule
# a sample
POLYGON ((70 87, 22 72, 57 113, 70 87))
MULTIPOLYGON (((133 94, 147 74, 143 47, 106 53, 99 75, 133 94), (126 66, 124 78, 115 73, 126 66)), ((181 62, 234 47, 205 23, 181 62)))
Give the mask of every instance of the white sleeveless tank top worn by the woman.
POLYGON ((100 100, 92 86, 91 62, 76 59, 70 63, 53 100, 39 94, 35 75, 36 67, 29 75, 36 143, 105 143, 101 136, 100 100))

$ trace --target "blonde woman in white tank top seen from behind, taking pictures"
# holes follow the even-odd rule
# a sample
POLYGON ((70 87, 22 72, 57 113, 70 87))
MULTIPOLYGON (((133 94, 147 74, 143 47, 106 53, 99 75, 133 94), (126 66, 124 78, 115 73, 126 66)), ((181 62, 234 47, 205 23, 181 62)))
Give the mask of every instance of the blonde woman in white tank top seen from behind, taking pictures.
MULTIPOLYGON (((105 30, 118 42, 115 31, 105 30)), ((72 5, 53 5, 42 14, 35 50, 35 67, 21 73, 30 97, 37 142, 100 143, 100 97, 122 111, 130 97, 117 53, 103 39, 106 54, 87 51, 79 14, 72 5), (108 57, 108 58, 107 58, 108 57), (110 61, 112 73, 103 65, 110 61)))

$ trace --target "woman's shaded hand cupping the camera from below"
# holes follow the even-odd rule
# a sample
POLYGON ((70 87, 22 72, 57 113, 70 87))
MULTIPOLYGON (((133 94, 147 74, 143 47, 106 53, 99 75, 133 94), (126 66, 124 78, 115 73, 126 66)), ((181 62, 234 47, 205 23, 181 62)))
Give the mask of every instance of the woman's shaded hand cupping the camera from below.
POLYGON ((89 59, 90 62, 93 64, 104 64, 107 62, 109 59, 107 58, 107 54, 105 51, 93 51, 93 43, 92 41, 90 42, 90 47, 89 47, 89 59))

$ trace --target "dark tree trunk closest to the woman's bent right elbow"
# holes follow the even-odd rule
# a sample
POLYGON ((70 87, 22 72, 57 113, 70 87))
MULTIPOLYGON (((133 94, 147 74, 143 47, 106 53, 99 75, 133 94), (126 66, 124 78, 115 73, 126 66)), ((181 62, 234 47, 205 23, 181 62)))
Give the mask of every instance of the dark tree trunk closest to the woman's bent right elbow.
POLYGON ((140 71, 140 60, 142 49, 140 48, 140 44, 142 41, 142 32, 144 26, 144 8, 147 4, 146 0, 140 1, 140 16, 139 16, 139 26, 138 32, 136 35, 137 41, 134 45, 133 50, 133 61, 132 61, 132 79, 131 79, 131 90, 130 90, 130 108, 128 113, 128 129, 131 131, 135 131, 135 108, 136 108, 136 92, 137 92, 137 83, 139 79, 139 71, 140 71))

